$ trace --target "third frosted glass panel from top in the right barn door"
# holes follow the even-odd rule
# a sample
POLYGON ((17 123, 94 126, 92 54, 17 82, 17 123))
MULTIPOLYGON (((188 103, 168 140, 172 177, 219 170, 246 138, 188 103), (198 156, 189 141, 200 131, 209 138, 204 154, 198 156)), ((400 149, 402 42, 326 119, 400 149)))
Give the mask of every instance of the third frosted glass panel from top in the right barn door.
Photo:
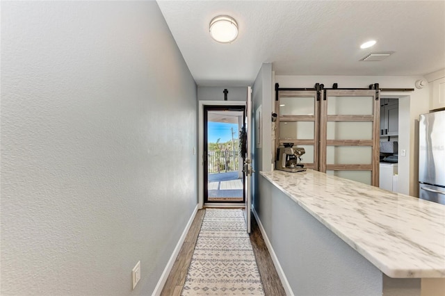
POLYGON ((328 165, 371 165, 373 149, 371 146, 327 146, 328 165))

